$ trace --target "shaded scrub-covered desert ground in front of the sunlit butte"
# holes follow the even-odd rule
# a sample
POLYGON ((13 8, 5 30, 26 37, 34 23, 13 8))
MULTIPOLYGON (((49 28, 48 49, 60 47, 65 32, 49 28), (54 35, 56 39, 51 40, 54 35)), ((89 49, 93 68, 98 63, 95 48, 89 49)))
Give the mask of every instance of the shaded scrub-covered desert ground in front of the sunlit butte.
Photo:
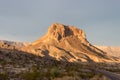
POLYGON ((103 64, 69 63, 22 51, 0 49, 0 80, 109 80, 93 69, 95 65, 106 69, 103 64))

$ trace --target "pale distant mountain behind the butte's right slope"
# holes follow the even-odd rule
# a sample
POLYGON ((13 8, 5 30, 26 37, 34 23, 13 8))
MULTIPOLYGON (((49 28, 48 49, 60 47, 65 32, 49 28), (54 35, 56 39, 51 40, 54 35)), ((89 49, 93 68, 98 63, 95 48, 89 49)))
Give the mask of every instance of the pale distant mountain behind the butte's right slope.
POLYGON ((110 56, 120 58, 120 47, 115 47, 115 46, 96 46, 96 47, 103 50, 110 56))

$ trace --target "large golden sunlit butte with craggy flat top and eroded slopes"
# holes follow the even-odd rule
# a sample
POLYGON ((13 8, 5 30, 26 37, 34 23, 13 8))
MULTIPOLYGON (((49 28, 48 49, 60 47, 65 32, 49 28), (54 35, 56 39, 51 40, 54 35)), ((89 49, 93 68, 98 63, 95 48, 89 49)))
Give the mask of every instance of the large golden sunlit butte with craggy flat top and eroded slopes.
POLYGON ((111 62, 113 58, 91 45, 85 32, 74 26, 52 24, 48 32, 23 51, 69 62, 111 62))

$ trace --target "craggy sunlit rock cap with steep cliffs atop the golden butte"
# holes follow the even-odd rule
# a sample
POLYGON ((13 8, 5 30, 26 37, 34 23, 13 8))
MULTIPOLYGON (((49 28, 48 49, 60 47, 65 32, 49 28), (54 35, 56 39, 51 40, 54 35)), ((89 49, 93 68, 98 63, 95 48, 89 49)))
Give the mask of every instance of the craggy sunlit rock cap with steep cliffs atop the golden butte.
POLYGON ((81 41, 85 39, 85 33, 74 26, 65 26, 62 24, 53 24, 48 30, 48 35, 56 40, 61 40, 66 37, 76 36, 81 41))

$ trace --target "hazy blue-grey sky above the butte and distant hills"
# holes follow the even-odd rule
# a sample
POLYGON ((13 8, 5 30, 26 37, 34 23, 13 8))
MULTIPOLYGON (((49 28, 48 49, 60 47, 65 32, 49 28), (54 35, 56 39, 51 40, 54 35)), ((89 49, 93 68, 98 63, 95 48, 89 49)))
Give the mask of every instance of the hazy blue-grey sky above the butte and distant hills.
POLYGON ((52 23, 83 29, 94 45, 120 46, 120 0, 0 0, 0 40, 33 42, 52 23))

